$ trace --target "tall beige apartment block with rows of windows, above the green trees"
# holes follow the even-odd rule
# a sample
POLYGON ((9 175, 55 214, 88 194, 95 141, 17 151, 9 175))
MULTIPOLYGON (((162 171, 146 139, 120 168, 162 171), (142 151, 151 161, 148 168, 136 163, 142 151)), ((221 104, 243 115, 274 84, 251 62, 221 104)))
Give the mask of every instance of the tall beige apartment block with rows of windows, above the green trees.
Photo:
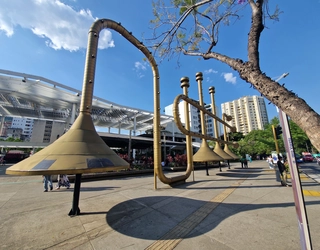
MULTIPOLYGON (((221 110, 222 113, 232 116, 232 121, 228 123, 244 135, 252 130, 264 129, 269 122, 264 98, 260 96, 245 96, 222 103, 221 110)), ((230 132, 230 129, 227 128, 227 131, 230 132)))

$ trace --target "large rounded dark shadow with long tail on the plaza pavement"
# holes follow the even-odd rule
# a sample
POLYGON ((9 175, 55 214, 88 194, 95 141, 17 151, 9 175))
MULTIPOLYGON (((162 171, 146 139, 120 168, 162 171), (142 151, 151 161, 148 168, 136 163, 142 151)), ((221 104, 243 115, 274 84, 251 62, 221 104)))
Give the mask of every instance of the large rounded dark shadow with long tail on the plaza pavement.
MULTIPOLYGON (((206 203, 207 202, 189 198, 170 196, 132 199, 112 207, 110 211, 107 212, 106 222, 121 234, 134 238, 157 240, 206 203)), ((318 205, 320 201, 307 202, 306 204, 318 205)), ((285 208, 295 206, 293 202, 280 204, 221 203, 217 205, 216 210, 210 211, 206 216, 208 223, 201 229, 201 232, 194 230, 192 234, 185 236, 185 238, 202 235, 215 228, 224 219, 237 213, 261 208, 285 208), (220 211, 218 210, 220 205, 223 206, 223 212, 221 210, 222 208, 220 211), (209 216, 210 218, 208 218, 209 216)), ((198 226, 201 221, 202 220, 198 221, 194 228, 198 226)), ((176 237, 172 236, 171 239, 176 239, 176 237)))

